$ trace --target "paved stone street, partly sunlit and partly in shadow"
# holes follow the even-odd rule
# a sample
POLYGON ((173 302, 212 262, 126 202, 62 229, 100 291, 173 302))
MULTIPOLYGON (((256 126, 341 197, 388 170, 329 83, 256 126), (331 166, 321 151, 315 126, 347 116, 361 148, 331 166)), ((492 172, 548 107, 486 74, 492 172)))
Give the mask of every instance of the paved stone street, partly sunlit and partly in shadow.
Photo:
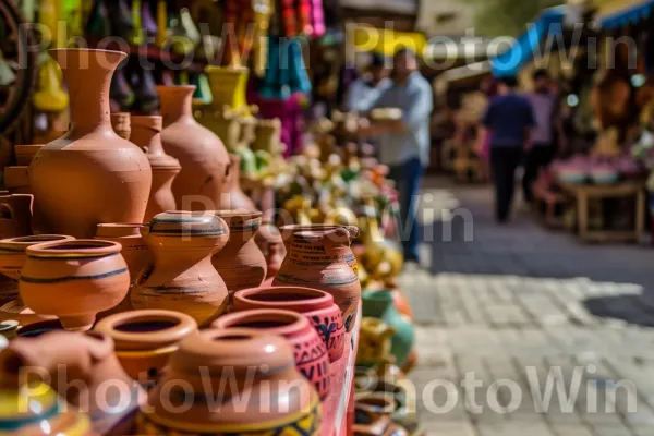
POLYGON ((446 242, 434 223, 429 272, 401 279, 428 434, 654 435, 654 249, 585 245, 523 210, 500 227, 489 187, 429 185, 423 209, 460 204, 474 231, 456 218, 446 242))

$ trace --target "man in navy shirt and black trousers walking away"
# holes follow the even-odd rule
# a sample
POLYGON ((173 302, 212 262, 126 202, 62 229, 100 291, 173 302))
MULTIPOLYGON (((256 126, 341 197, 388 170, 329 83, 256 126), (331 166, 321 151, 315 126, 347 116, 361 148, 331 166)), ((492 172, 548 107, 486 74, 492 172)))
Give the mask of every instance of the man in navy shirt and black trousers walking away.
POLYGON ((494 97, 483 119, 481 137, 491 135, 491 172, 495 186, 495 218, 509 219, 516 191, 516 170, 523 153, 531 147, 532 129, 536 125, 529 100, 516 93, 516 77, 499 81, 499 95, 494 97))

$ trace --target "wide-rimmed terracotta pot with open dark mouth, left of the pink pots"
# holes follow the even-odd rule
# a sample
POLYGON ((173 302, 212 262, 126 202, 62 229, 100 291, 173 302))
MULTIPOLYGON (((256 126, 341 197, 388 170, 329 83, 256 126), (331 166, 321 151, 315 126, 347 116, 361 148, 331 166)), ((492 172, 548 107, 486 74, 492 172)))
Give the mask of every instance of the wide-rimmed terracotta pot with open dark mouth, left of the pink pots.
POLYGON ((132 311, 108 316, 95 326, 113 339, 128 375, 154 386, 178 342, 197 331, 189 315, 173 311, 132 311))

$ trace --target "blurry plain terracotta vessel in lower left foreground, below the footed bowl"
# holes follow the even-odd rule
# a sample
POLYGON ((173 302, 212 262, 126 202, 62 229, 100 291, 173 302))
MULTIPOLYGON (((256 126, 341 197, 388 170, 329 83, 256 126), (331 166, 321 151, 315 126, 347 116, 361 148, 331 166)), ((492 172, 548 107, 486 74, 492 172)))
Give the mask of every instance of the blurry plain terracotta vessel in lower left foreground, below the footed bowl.
POLYGON ((5 363, 49 375, 62 398, 88 413, 98 435, 129 434, 131 417, 146 399, 143 388, 120 366, 111 338, 97 331, 16 338, 2 358, 5 363))

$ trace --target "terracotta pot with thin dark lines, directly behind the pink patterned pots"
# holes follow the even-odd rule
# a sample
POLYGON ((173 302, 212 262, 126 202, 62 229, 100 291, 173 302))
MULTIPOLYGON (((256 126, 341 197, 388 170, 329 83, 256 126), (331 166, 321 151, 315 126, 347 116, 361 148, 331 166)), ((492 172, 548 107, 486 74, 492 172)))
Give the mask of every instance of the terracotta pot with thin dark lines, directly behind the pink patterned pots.
POLYGON ((356 258, 350 250, 359 229, 286 226, 281 234, 288 254, 272 286, 301 286, 330 293, 341 310, 346 330, 350 331, 361 300, 356 258))

